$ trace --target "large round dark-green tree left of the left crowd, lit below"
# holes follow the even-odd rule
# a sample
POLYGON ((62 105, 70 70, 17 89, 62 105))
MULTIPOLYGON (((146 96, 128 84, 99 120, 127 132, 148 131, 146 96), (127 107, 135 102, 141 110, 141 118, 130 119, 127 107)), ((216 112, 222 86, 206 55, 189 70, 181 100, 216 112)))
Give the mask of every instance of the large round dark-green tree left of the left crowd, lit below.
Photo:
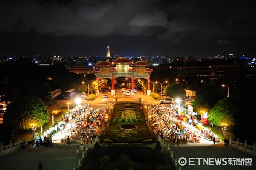
POLYGON ((35 127, 43 126, 50 115, 41 99, 26 95, 18 96, 8 105, 3 119, 13 130, 26 130, 31 128, 31 123, 35 123, 35 127))

